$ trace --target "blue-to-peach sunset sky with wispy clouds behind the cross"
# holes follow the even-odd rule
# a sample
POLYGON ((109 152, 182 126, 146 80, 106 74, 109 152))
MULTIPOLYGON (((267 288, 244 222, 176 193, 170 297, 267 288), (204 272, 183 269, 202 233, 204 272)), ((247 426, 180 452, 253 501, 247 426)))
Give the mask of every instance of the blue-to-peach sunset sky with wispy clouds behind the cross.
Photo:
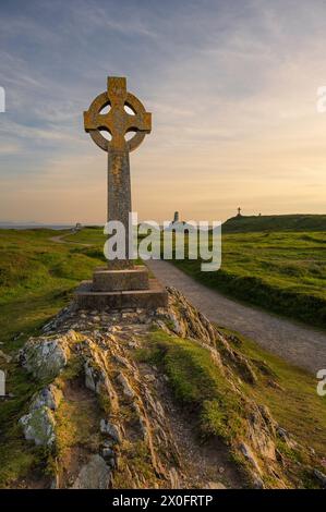
POLYGON ((83 111, 110 75, 153 113, 140 219, 326 214, 325 28, 322 0, 1 0, 0 220, 105 222, 83 111))

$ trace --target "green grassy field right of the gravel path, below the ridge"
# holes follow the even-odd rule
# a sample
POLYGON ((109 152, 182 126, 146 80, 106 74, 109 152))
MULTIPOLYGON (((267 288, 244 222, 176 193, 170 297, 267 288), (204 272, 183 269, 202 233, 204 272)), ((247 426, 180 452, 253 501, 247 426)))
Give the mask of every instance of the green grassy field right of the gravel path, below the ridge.
POLYGON ((249 232, 222 235, 221 269, 174 260, 204 284, 312 325, 326 327, 326 232, 249 232))

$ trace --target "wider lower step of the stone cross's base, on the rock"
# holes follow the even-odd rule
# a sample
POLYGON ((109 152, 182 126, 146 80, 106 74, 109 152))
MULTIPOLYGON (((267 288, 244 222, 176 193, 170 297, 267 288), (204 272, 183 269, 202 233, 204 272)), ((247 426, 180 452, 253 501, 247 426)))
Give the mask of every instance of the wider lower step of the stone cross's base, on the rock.
POLYGON ((93 281, 83 281, 75 292, 81 309, 156 309, 168 305, 168 292, 156 279, 149 279, 147 290, 95 291, 93 281))

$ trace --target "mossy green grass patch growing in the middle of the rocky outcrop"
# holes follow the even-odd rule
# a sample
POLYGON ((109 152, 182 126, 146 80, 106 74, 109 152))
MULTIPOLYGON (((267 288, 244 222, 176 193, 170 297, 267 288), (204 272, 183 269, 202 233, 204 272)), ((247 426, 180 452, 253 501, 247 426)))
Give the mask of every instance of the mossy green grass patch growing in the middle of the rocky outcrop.
POLYGON ((150 334, 138 358, 164 366, 176 398, 198 411, 203 430, 230 441, 241 429, 241 403, 203 346, 162 331, 150 334))

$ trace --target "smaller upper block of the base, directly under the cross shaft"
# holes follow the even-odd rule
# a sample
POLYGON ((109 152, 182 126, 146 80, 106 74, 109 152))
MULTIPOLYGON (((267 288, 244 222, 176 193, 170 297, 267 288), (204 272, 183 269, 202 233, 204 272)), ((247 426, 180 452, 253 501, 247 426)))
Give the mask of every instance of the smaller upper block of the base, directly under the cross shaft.
POLYGON ((93 290, 96 292, 118 292, 125 290, 148 289, 148 270, 135 266, 132 269, 110 270, 107 267, 95 270, 93 290))

